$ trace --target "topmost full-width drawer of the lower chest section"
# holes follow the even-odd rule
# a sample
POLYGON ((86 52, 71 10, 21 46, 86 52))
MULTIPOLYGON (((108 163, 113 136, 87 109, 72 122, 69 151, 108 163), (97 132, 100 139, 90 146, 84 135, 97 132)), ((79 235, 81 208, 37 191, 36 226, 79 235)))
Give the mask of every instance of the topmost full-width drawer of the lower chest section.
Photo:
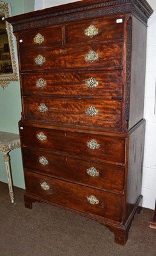
POLYGON ((22 146, 40 147, 53 152, 88 157, 88 160, 90 158, 96 161, 125 163, 125 138, 31 126, 20 126, 20 138, 22 146))

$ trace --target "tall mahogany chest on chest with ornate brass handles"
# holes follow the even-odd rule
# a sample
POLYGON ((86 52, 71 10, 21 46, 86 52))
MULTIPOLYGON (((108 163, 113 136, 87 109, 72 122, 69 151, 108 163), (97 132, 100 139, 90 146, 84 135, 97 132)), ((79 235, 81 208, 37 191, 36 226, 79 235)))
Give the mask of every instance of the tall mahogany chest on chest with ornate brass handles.
POLYGON ((143 0, 84 0, 16 17, 25 205, 104 223, 125 244, 141 204, 143 0))

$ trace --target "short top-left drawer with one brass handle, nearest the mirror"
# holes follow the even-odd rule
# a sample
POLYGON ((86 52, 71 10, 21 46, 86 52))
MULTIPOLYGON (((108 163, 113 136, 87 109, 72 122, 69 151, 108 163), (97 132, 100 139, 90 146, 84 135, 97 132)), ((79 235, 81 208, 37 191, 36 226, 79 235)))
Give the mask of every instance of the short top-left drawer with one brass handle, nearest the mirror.
POLYGON ((44 29, 38 29, 35 31, 26 31, 24 33, 18 33, 19 49, 38 47, 51 47, 52 45, 62 44, 62 29, 49 27, 44 29))

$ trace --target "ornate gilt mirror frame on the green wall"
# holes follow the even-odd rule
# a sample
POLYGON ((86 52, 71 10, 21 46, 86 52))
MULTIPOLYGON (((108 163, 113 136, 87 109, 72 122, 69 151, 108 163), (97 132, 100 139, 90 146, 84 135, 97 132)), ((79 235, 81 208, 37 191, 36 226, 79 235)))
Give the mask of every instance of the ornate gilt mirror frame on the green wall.
MULTIPOLYGON (((0 15, 5 18, 10 17, 12 15, 11 13, 11 8, 10 4, 4 3, 2 0, 0 0, 0 15)), ((3 20, 4 20, 3 19, 3 20)), ((15 51, 15 36, 13 35, 12 32, 12 25, 9 24, 7 21, 6 22, 6 31, 8 35, 8 45, 10 49, 10 58, 11 58, 11 63, 12 63, 12 72, 10 73, 0 73, 0 86, 2 88, 6 88, 8 84, 11 81, 18 81, 19 80, 19 75, 18 75, 18 69, 17 69, 17 52, 15 51)))

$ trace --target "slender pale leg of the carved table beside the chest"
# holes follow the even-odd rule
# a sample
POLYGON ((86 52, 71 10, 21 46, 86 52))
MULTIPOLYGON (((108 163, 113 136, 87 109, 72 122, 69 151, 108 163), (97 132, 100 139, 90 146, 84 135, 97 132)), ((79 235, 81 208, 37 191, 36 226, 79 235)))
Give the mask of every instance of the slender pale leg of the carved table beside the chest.
POLYGON ((3 155, 3 159, 4 159, 4 163, 5 163, 5 168, 6 168, 6 175, 8 178, 9 194, 10 194, 11 201, 13 203, 14 202, 14 193, 13 193, 13 186, 12 186, 12 176, 11 176, 11 172, 10 172, 10 156, 8 155, 8 153, 5 153, 3 155))

